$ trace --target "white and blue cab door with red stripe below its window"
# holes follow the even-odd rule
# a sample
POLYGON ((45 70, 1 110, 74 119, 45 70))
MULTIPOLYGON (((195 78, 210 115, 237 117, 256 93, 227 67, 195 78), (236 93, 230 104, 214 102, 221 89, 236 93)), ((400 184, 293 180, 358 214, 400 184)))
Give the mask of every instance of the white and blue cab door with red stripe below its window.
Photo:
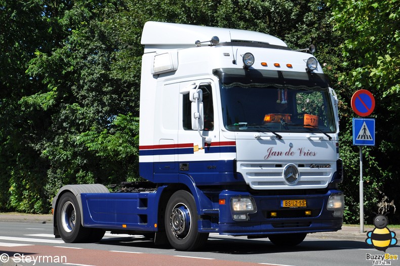
MULTIPOLYGON (((179 173, 189 174, 197 185, 216 181, 220 159, 220 136, 218 127, 218 109, 215 99, 216 87, 212 79, 193 80, 180 83, 178 161, 179 173), (196 87, 202 91, 201 105, 203 126, 197 130, 193 122, 193 101, 187 87, 196 87), (183 92, 183 93, 182 93, 183 92)), ((194 108, 195 109, 195 108, 194 108)))

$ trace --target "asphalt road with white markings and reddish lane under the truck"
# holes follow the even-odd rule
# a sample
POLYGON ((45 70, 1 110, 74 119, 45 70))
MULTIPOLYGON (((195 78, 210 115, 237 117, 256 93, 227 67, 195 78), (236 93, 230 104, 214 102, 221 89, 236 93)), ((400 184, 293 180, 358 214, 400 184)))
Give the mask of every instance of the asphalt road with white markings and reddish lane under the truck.
MULTIPOLYGON (((398 236, 397 236, 398 237, 398 236)), ((400 247, 386 253, 400 255, 400 247)), ((0 223, 0 266, 4 265, 376 265, 368 254, 383 255, 364 241, 306 237, 299 246, 280 248, 268 239, 248 240, 211 234, 197 252, 154 246, 142 236, 106 233, 99 243, 67 244, 53 236, 51 223, 0 223), (11 259, 14 257, 15 262, 11 259), (30 260, 30 261, 29 261, 30 260)), ((400 260, 384 260, 400 265, 400 260)))

